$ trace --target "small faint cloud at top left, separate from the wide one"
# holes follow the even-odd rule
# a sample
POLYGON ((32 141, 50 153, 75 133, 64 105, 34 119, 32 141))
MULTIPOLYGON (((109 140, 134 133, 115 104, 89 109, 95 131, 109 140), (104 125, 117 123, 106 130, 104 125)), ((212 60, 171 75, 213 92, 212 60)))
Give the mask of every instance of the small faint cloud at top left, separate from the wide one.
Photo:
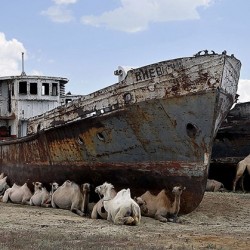
POLYGON ((54 5, 41 12, 42 15, 48 16, 53 22, 68 23, 74 20, 72 11, 65 6, 54 5))

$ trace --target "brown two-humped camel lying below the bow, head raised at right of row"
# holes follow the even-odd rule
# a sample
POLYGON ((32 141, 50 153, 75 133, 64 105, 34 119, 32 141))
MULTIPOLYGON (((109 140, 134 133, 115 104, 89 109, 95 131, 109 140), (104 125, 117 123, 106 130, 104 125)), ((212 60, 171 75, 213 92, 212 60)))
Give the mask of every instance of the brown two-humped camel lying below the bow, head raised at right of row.
POLYGON ((180 211, 180 197, 185 189, 182 186, 173 188, 172 193, 175 196, 173 202, 170 201, 165 189, 161 190, 157 195, 146 191, 140 197, 135 197, 134 200, 141 207, 143 216, 155 218, 161 222, 177 222, 177 216, 180 211))

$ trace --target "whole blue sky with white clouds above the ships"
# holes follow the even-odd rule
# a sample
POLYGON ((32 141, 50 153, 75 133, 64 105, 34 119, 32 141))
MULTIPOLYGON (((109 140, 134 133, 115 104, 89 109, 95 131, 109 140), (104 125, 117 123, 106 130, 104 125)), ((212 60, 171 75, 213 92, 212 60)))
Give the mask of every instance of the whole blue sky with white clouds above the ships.
POLYGON ((249 0, 2 0, 0 76, 66 77, 89 94, 141 67, 226 50, 241 63, 239 102, 250 101, 249 0))

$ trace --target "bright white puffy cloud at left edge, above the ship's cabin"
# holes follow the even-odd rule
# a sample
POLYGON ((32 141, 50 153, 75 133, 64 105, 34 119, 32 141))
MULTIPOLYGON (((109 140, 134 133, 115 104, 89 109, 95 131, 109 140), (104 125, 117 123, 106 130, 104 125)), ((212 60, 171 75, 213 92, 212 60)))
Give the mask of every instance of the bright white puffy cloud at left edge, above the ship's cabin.
POLYGON ((8 41, 5 34, 0 32, 0 76, 21 74, 22 52, 26 52, 26 49, 21 42, 16 39, 8 41))

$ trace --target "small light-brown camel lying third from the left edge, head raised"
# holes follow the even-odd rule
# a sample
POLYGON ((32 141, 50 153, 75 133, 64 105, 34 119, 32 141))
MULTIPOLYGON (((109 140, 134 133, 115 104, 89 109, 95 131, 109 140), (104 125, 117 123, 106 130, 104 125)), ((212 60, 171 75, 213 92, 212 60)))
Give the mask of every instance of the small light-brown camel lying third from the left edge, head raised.
POLYGON ((51 195, 41 182, 33 182, 34 194, 30 198, 30 205, 49 207, 51 206, 51 195))

